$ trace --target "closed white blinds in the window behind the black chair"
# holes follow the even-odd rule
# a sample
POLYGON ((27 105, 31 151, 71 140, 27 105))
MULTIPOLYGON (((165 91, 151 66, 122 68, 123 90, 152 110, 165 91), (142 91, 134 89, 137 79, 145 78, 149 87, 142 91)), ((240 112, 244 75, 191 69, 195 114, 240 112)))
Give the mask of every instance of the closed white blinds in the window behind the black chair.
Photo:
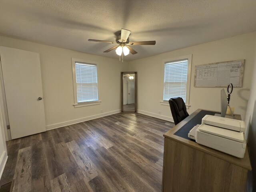
POLYGON ((181 97, 186 102, 188 59, 165 62, 164 64, 164 101, 181 97))

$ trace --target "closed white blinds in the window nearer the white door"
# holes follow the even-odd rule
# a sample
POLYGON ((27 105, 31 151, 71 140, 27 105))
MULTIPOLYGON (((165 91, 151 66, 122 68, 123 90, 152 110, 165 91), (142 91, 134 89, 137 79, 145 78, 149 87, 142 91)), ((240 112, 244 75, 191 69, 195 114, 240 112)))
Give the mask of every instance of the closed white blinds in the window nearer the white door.
POLYGON ((98 101, 97 66, 76 62, 75 67, 77 102, 98 101))

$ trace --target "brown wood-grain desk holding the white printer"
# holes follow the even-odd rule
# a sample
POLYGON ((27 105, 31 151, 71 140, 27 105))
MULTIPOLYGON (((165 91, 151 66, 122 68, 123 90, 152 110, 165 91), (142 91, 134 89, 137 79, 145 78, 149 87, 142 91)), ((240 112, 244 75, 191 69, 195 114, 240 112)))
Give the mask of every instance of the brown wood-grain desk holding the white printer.
POLYGON ((174 135, 200 111, 164 134, 162 191, 244 192, 247 172, 252 170, 247 148, 244 158, 236 158, 174 135))

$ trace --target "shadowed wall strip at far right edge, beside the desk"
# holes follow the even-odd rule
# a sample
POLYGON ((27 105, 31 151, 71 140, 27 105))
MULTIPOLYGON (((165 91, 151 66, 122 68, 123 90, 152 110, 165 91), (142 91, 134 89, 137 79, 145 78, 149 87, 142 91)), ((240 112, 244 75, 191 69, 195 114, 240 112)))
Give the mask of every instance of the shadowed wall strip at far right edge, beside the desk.
POLYGON ((254 68, 252 74, 252 85, 250 89, 250 98, 246 110, 246 138, 250 148, 250 160, 252 172, 248 174, 248 191, 256 190, 256 33, 254 34, 254 68), (254 184, 254 186, 253 186, 254 184), (254 188, 253 188, 254 187, 254 188))

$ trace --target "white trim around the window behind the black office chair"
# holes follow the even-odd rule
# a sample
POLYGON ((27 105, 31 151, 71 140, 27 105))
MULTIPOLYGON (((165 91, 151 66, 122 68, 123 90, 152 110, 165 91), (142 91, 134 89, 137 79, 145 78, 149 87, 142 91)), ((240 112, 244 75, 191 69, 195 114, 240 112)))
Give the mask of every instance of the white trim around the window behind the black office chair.
POLYGON ((166 62, 172 62, 177 60, 188 59, 188 74, 187 74, 187 86, 186 86, 186 108, 190 107, 189 98, 190 98, 190 84, 191 84, 191 66, 192 66, 192 54, 184 55, 179 57, 173 57, 162 60, 162 99, 160 100, 161 105, 169 106, 168 101, 164 101, 164 66, 166 62))

